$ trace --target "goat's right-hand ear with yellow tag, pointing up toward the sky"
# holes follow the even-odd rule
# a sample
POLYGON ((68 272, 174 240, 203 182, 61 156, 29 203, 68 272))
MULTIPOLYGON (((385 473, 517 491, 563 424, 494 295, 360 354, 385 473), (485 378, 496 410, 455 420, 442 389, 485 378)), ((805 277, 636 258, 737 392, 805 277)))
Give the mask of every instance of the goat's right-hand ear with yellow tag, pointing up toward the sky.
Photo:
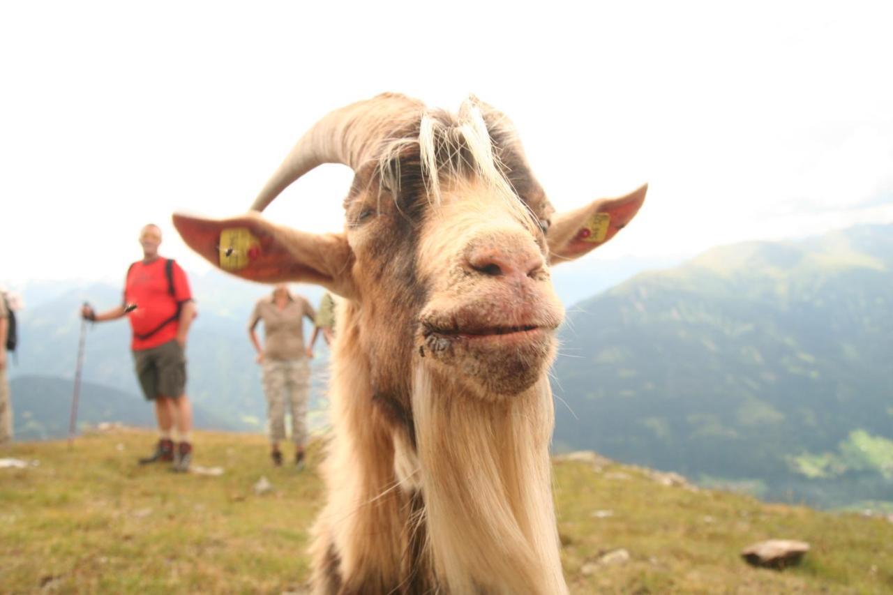
POLYGON ((600 198, 582 208, 556 214, 546 234, 549 264, 579 258, 604 244, 629 223, 645 202, 648 185, 619 198, 600 198))

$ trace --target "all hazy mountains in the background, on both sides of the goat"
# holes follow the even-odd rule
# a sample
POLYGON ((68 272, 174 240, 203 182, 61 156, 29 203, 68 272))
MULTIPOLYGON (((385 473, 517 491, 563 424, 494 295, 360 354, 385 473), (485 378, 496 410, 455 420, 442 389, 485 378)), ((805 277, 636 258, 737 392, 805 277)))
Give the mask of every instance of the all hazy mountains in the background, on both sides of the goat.
MULTIPOLYGON (((568 307, 561 332, 555 448, 593 448, 768 499, 893 502, 893 225, 719 247, 607 289, 669 264, 555 269, 566 304, 590 296, 568 307)), ((189 394, 207 423, 260 432, 265 403, 246 318, 268 289, 220 272, 191 280, 200 315, 188 345, 189 394)), ((299 291, 314 304, 321 295, 299 291)), ((17 426, 33 430, 20 438, 67 429, 71 392, 58 379, 71 387, 79 304, 104 309, 120 296, 111 284, 26 288, 19 363, 10 369, 17 426), (47 405, 46 395, 60 403, 47 405), (63 423, 38 428, 50 415, 63 423)), ((123 321, 89 331, 85 402, 117 405, 86 406, 82 420, 129 421, 128 407, 150 413, 128 345, 123 321)), ((320 426, 328 352, 317 345, 311 410, 320 426)), ((134 423, 150 424, 145 417, 134 423)))

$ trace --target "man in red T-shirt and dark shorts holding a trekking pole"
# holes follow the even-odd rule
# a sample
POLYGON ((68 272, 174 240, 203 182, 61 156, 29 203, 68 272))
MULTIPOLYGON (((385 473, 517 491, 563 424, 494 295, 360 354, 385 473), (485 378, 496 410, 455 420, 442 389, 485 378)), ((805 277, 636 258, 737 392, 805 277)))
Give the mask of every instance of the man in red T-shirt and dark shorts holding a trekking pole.
POLYGON ((153 401, 159 439, 140 465, 171 462, 185 473, 192 461, 192 406, 186 396, 186 338, 196 316, 186 273, 179 264, 158 256, 162 230, 149 223, 139 232, 143 259, 130 264, 121 306, 102 313, 84 305, 81 315, 96 323, 127 315, 133 339, 137 378, 146 400, 153 401), (136 307, 134 307, 136 306, 136 307), (177 429, 174 448, 171 432, 177 429))

